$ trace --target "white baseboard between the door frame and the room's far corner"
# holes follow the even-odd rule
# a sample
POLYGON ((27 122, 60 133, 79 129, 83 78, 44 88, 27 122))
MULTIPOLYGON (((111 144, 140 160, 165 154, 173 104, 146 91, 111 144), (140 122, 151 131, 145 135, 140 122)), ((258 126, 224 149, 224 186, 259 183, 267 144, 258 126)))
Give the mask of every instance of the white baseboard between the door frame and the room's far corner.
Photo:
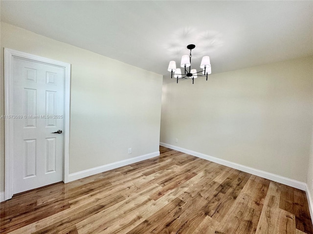
POLYGON ((115 168, 127 166, 129 164, 132 164, 132 163, 135 163, 135 162, 139 162, 139 161, 142 161, 142 160, 146 160, 146 159, 149 159, 149 158, 152 158, 152 157, 156 157, 156 156, 159 156, 159 155, 160 155, 160 152, 157 151, 157 152, 150 153, 150 154, 147 154, 147 155, 132 157, 132 158, 129 158, 129 159, 125 159, 125 160, 118 161, 118 162, 113 162, 113 163, 110 163, 110 164, 107 164, 107 165, 103 165, 103 166, 100 166, 100 167, 91 168, 91 169, 88 169, 88 170, 85 170, 85 171, 75 172, 75 173, 72 173, 72 174, 68 175, 68 181, 67 182, 71 182, 71 181, 74 181, 74 180, 77 180, 77 179, 81 179, 81 178, 85 178, 85 177, 88 177, 88 176, 93 176, 93 175, 96 175, 98 173, 102 173, 102 172, 110 171, 110 170, 115 169, 115 168))

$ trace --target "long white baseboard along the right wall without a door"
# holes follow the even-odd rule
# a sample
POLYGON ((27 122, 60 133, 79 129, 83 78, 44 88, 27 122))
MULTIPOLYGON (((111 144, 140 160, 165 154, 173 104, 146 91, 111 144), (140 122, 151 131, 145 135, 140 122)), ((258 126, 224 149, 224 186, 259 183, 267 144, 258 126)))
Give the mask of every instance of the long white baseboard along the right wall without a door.
POLYGON ((231 168, 234 168, 234 169, 237 169, 237 170, 240 170, 240 171, 243 171, 243 172, 255 175, 255 176, 260 176, 260 177, 263 177, 266 179, 270 179, 272 181, 275 181, 275 182, 278 182, 281 184, 285 184, 285 185, 291 186, 291 187, 296 188, 296 189, 300 189, 303 191, 307 190, 307 184, 306 183, 303 183, 303 182, 300 182, 297 180, 293 180, 293 179, 290 179, 290 178, 287 178, 284 176, 278 176, 278 175, 271 174, 271 173, 268 173, 265 171, 261 171, 261 170, 255 169, 255 168, 246 167, 246 166, 238 164, 238 163, 230 162, 230 161, 218 158, 218 157, 204 155, 202 153, 195 152, 192 150, 187 150, 184 148, 180 148, 180 147, 175 146, 175 145, 170 145, 170 144, 166 144, 166 143, 162 143, 162 142, 160 142, 160 145, 167 147, 167 148, 170 148, 170 149, 173 149, 173 150, 177 150, 179 152, 182 152, 182 153, 185 153, 188 155, 200 157, 200 158, 206 159, 206 160, 211 161, 211 162, 216 162, 218 164, 222 164, 224 166, 231 167, 231 168))

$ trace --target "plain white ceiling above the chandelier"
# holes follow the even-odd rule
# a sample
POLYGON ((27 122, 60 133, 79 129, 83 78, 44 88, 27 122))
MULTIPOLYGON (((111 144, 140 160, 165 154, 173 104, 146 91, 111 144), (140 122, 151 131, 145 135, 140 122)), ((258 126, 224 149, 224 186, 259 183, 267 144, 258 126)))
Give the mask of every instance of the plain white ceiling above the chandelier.
MULTIPOLYGON (((164 75, 195 44, 212 74, 313 55, 313 1, 7 1, 1 21, 164 75)), ((172 79, 173 80, 173 79, 172 79)))

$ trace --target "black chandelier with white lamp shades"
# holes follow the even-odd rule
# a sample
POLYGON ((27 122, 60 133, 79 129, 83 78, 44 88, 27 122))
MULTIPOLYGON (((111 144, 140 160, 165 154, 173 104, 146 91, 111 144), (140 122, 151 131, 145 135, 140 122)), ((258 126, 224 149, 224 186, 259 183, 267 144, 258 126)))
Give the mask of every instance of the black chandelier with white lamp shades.
POLYGON ((179 79, 182 78, 191 78, 192 79, 192 83, 194 83, 194 79, 198 78, 198 77, 206 77, 207 80, 207 75, 211 74, 211 64, 210 64, 210 57, 208 56, 203 56, 202 60, 201 60, 201 64, 200 67, 203 69, 202 74, 203 75, 198 75, 196 69, 191 69, 191 50, 194 49, 196 46, 191 44, 191 45, 187 45, 187 49, 190 50, 190 55, 183 55, 181 57, 181 62, 180 62, 180 66, 185 68, 185 72, 184 74, 181 73, 180 68, 176 68, 176 62, 175 61, 170 61, 170 64, 168 65, 168 71, 171 72, 171 78, 173 78, 173 73, 174 73, 174 78, 177 78, 177 83, 179 79), (187 67, 189 67, 189 72, 187 71, 187 67))

